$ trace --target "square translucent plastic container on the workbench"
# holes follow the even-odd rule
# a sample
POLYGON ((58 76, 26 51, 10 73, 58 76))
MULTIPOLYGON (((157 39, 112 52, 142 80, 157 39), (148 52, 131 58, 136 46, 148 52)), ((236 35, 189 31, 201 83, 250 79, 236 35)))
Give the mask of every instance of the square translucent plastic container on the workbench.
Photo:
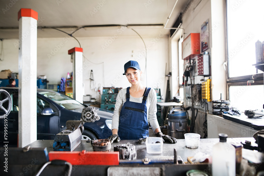
POLYGON ((161 137, 147 137, 146 139, 147 153, 162 153, 163 140, 161 137), (158 143, 156 143, 158 141, 158 143))

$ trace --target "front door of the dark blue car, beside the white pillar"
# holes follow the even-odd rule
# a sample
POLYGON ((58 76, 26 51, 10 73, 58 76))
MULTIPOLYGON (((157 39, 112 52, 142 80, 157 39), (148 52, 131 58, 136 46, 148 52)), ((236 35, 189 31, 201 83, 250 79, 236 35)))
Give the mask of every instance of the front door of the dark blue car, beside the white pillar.
POLYGON ((48 98, 37 95, 37 139, 53 140, 59 132, 59 110, 48 98), (53 113, 46 113, 47 108, 53 113))

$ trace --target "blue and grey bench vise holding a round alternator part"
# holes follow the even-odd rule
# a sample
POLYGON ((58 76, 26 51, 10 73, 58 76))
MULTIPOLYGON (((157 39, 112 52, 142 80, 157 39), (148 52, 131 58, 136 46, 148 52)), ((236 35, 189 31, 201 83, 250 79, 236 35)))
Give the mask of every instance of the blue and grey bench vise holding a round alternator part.
POLYGON ((81 120, 68 120, 66 130, 62 130, 55 136, 53 142, 54 151, 73 151, 82 139, 84 130, 83 124, 86 122, 95 122, 100 117, 94 107, 83 108, 81 120))

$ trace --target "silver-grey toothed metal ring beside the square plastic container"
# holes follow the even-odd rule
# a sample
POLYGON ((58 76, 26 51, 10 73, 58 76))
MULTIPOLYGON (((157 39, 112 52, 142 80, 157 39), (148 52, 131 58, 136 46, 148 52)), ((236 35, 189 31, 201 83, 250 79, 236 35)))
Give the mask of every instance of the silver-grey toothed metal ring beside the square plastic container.
POLYGON ((119 158, 126 160, 136 159, 136 148, 133 144, 127 143, 114 146, 114 151, 119 151, 119 158))

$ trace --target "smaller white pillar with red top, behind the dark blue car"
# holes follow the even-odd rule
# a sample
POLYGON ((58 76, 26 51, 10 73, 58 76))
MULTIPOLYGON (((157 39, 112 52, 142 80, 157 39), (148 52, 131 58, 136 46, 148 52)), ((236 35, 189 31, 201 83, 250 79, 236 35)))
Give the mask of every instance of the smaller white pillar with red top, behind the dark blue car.
POLYGON ((68 50, 68 54, 71 55, 73 63, 73 98, 83 103, 83 68, 82 68, 82 55, 83 49, 74 47, 68 50))

